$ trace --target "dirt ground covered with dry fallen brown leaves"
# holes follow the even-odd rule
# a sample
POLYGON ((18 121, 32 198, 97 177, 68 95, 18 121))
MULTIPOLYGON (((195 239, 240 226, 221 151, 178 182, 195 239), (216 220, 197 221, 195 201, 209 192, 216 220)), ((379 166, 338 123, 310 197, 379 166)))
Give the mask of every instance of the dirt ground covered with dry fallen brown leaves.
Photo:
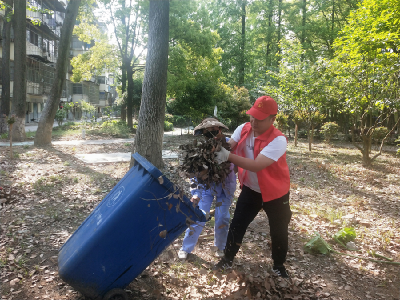
MULTIPOLYGON (((164 149, 177 151, 192 140, 165 136, 164 149)), ((12 160, 8 147, 0 150, 1 299, 85 299, 59 278, 58 250, 129 163, 88 165, 74 155, 130 152, 131 145, 18 146, 12 160)), ((181 235, 126 287, 129 299, 400 299, 400 265, 394 263, 400 262, 400 159, 385 152, 365 168, 350 144, 317 142, 309 152, 305 141, 298 147, 290 141, 287 158, 290 280, 271 275, 268 222, 260 213, 232 272, 211 270, 217 262, 211 220, 187 261, 177 258, 181 235), (332 239, 345 227, 355 229, 358 251, 332 239), (306 253, 304 245, 316 232, 336 251, 353 256, 306 253)), ((177 159, 165 160, 161 171, 188 189, 177 165, 177 159)))

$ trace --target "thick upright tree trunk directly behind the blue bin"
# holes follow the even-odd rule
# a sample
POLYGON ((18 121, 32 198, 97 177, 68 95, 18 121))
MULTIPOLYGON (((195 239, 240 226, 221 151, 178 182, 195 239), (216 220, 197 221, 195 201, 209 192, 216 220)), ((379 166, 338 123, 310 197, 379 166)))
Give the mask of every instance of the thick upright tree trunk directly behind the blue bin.
MULTIPOLYGON (((134 151, 161 168, 167 93, 169 1, 151 0, 142 103, 134 151)), ((131 160, 131 165, 133 161, 131 160)))

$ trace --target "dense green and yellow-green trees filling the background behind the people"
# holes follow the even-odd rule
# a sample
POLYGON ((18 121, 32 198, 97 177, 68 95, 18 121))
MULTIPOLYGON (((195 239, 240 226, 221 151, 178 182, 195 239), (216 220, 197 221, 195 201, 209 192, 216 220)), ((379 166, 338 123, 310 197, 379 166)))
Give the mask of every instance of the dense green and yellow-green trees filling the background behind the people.
MULTIPOLYGON (((216 112, 233 129, 247 120, 245 111, 255 99, 268 94, 279 103, 280 129, 290 135, 295 128, 296 141, 298 134, 307 136, 310 150, 322 126, 328 139, 338 132, 354 142, 365 165, 381 153, 382 148, 371 154, 373 142, 395 143, 399 1, 170 3, 165 128, 197 124, 216 112)), ((126 116, 138 119, 148 8, 146 2, 98 4, 110 12, 106 22, 119 52, 104 53, 109 48, 99 46, 100 51, 74 58, 74 76, 82 80, 96 69, 116 68, 122 120, 133 128, 135 118, 126 116), (100 65, 93 67, 90 57, 100 65)), ((83 21, 75 32, 89 32, 89 23, 83 21)))

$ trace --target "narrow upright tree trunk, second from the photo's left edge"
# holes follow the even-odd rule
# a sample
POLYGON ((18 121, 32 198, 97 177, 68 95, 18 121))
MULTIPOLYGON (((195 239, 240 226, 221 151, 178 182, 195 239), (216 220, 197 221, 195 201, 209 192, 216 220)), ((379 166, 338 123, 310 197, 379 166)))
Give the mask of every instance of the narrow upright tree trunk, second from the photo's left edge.
POLYGON ((14 91, 11 114, 15 114, 12 138, 25 140, 26 113, 26 1, 15 1, 14 5, 14 91))

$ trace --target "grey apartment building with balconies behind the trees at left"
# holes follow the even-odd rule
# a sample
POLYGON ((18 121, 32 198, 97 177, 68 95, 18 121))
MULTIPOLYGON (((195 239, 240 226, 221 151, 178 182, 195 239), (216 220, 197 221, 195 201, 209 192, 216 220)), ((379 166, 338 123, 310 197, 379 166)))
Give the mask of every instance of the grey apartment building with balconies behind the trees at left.
MULTIPOLYGON (((54 81, 55 65, 58 57, 58 44, 61 27, 64 22, 66 0, 29 0, 32 7, 41 11, 26 11, 26 123, 38 122, 43 107, 50 95, 54 81), (45 11, 43 13, 42 11, 45 11)), ((0 30, 3 26, 4 11, 0 11, 0 30)), ((1 32, 1 31, 0 31, 1 32)), ((0 36, 0 39, 2 37, 0 36)), ((72 38, 70 56, 81 54, 90 49, 90 45, 72 38)), ((0 60, 1 57, 0 44, 0 60)), ((1 64, 0 64, 1 68, 1 64)), ((102 74, 103 75, 103 74, 102 74)), ((104 107, 115 100, 115 88, 112 86, 112 74, 92 78, 90 81, 72 83, 72 69, 66 74, 66 82, 62 92, 63 102, 90 102, 101 114, 104 107)), ((2 76, 0 77, 2 85, 2 76)), ((10 97, 13 97, 14 86, 14 33, 11 28, 10 46, 10 97)), ((67 118, 79 119, 82 113, 78 107, 67 118)))

